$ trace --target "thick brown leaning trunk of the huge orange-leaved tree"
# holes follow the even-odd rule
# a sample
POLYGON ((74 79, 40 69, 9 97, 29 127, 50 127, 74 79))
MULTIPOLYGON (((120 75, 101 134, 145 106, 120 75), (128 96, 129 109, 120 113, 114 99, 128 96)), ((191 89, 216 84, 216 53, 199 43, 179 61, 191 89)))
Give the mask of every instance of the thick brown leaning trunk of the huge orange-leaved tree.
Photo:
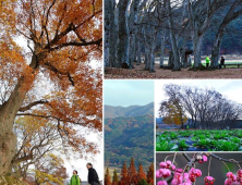
MULTIPOLYGON (((36 57, 33 57, 31 66, 36 67, 36 57)), ((16 136, 13 133, 13 124, 16 113, 33 82, 34 77, 22 76, 10 98, 0 107, 0 175, 11 171, 11 161, 16 147, 16 136)))

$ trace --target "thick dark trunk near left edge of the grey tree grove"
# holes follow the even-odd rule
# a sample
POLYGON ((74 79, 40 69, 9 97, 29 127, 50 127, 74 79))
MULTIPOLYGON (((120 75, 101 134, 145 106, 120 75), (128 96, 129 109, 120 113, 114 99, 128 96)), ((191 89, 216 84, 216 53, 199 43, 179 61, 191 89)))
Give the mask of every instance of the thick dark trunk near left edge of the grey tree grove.
POLYGON ((129 0, 119 1, 119 44, 118 44, 118 62, 124 69, 130 69, 129 48, 130 48, 130 30, 126 16, 126 8, 129 0))

